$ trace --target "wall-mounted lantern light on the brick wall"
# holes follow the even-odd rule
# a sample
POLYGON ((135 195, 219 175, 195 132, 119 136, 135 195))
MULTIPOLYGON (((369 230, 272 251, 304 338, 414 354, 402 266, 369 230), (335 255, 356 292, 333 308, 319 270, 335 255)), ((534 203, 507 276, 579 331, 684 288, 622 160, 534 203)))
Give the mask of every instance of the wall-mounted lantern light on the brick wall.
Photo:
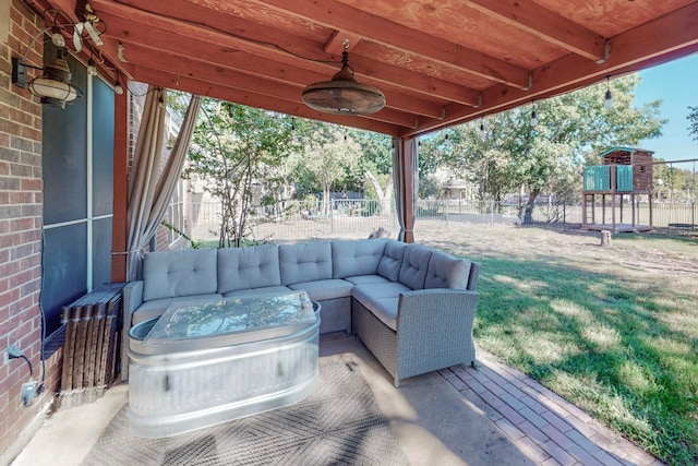
POLYGON ((56 59, 44 68, 26 64, 21 58, 12 58, 12 84, 28 88, 32 95, 40 98, 43 105, 65 108, 83 93, 71 84, 72 74, 65 60, 64 47, 57 48, 56 59), (27 82, 27 68, 43 71, 44 74, 27 82))

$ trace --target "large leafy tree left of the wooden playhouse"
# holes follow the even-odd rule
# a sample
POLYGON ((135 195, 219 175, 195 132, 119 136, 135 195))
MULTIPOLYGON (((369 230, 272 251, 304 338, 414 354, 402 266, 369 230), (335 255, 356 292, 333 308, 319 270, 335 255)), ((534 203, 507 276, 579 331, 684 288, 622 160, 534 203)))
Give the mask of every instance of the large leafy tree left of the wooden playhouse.
POLYGON ((520 215, 530 222, 539 194, 576 191, 568 183, 580 182, 586 156, 661 134, 660 101, 633 106, 638 83, 636 75, 613 81, 610 110, 603 107, 606 84, 589 86, 446 130, 430 142, 431 151, 476 182, 481 199, 500 201, 508 192, 527 191, 520 215))

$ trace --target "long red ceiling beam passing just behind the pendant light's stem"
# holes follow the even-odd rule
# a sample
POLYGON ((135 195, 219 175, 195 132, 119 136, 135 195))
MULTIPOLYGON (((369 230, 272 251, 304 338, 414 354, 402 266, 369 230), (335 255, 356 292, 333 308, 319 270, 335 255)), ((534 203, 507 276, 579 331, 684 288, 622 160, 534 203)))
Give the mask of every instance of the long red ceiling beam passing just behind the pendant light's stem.
MULTIPOLYGON (((177 3, 177 0, 173 1, 177 3)), ((96 9, 98 7, 97 12, 99 16, 103 17, 109 26, 106 35, 117 39, 135 35, 139 28, 145 27, 148 31, 157 29, 157 32, 151 32, 153 40, 155 40, 157 35, 170 33, 171 40, 174 41, 170 43, 168 47, 179 45, 184 48, 188 41, 197 38, 198 40, 208 43, 209 47, 216 47, 221 53, 241 50, 272 61, 289 63, 306 70, 318 72, 325 70, 327 71, 326 79, 339 70, 338 65, 332 68, 329 64, 321 63, 316 60, 299 59, 297 56, 284 51, 278 47, 274 47, 270 44, 249 40, 222 31, 196 24, 195 21, 190 22, 185 19, 173 17, 172 11, 177 11, 177 9, 170 8, 171 2, 164 5, 156 2, 148 3, 148 11, 122 3, 99 2, 99 0, 94 3, 96 9), (167 10, 167 12, 160 12, 160 9, 167 10), (139 23, 142 25, 139 25, 139 23)), ((257 25, 256 27, 262 26, 257 25)), ((296 39, 293 44, 296 44, 293 52, 297 55, 304 57, 317 55, 317 46, 309 40, 296 39)), ((203 50, 200 49, 200 52, 203 52, 203 50)), ((370 77, 372 81, 371 84, 377 87, 387 84, 396 89, 402 89, 404 93, 407 92, 408 95, 418 93, 425 99, 438 98, 456 101, 461 105, 477 105, 479 99, 479 93, 477 91, 444 80, 424 76, 398 67, 387 67, 384 63, 378 63, 362 57, 354 57, 351 61, 356 69, 363 70, 363 73, 358 74, 370 77), (359 63, 360 67, 356 67, 357 63, 359 63)))

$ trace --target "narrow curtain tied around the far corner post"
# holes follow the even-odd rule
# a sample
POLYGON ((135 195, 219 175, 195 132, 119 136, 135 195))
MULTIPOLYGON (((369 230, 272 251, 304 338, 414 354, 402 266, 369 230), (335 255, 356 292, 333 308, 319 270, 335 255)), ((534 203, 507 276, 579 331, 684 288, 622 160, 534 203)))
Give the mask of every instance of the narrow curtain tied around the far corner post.
POLYGON ((397 212, 397 220, 400 225, 400 232, 397 236, 399 241, 412 242, 414 240, 414 219, 417 217, 417 200, 419 194, 419 164, 417 154, 417 138, 405 141, 402 138, 393 140, 393 181, 395 189, 395 210, 397 212), (409 147, 406 147, 409 144, 409 147), (406 148, 411 154, 406 154, 406 148), (406 168, 405 157, 411 156, 409 168, 406 168), (411 177, 407 177, 406 170, 411 171, 411 177), (408 190, 407 182, 411 178, 411 204, 406 202, 406 192, 408 190), (408 210, 411 208, 411 215, 408 210))

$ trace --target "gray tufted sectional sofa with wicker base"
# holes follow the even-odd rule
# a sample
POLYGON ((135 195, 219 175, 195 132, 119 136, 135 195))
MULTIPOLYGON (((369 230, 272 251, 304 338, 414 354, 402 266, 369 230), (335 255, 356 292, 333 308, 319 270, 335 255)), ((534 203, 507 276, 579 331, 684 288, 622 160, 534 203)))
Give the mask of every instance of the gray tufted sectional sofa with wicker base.
POLYGON ((385 238, 152 252, 143 280, 123 291, 122 346, 132 325, 173 303, 305 290, 322 304, 321 333, 354 333, 398 386, 474 363, 478 273, 476 262, 385 238))

